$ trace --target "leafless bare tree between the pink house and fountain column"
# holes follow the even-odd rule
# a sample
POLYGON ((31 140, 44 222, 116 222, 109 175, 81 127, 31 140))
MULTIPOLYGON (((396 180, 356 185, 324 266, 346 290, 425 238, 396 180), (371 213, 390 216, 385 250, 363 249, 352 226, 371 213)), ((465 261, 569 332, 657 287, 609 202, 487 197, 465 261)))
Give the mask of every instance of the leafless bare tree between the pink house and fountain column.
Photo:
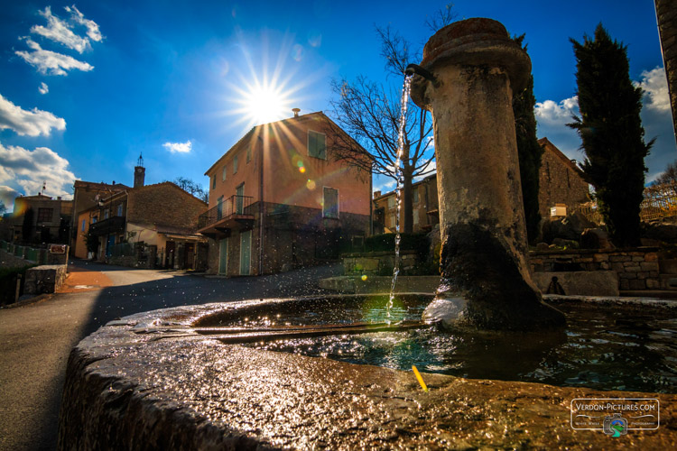
MULTIPOLYGON (((331 101, 335 121, 350 136, 334 133, 338 139, 331 150, 338 161, 347 161, 365 170, 396 180, 401 91, 403 71, 413 61, 420 61, 419 52, 412 54, 411 45, 390 27, 376 28, 381 39, 381 56, 385 69, 395 75, 394 85, 357 77, 331 83, 335 98, 331 101)), ((333 126, 329 124, 329 126, 333 126)), ((432 124, 426 110, 410 102, 402 150, 402 221, 403 232, 413 230, 413 179, 431 174, 434 153, 431 148, 432 124)))

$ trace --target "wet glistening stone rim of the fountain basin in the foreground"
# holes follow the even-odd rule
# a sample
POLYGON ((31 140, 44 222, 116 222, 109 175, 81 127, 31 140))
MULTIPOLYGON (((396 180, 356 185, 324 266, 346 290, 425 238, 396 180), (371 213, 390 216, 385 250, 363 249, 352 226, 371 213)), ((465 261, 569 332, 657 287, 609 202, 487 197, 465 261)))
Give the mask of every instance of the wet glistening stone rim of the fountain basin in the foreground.
MULTIPOLYGON (((318 299, 305 299, 316 302, 318 299)), ((218 303, 109 322, 71 352, 59 449, 543 447, 671 449, 676 395, 468 380, 225 344, 223 318, 300 299, 218 303), (238 313, 239 312, 239 313, 238 313), (574 398, 658 398, 661 427, 570 427, 574 398)))

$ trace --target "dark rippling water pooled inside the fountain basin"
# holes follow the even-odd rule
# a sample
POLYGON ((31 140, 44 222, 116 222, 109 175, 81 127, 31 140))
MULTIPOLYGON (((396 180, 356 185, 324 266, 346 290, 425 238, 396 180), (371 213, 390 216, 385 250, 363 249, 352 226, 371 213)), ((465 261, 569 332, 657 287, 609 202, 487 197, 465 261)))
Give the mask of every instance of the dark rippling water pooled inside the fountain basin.
MULTIPOLYGON (((430 297, 395 299, 391 319, 417 320, 430 297)), ((281 327, 385 321, 388 296, 311 299, 252 307, 202 321, 204 326, 281 327)), ((677 315, 642 307, 557 306, 561 332, 444 333, 436 327, 248 344, 428 373, 585 386, 598 390, 677 391, 677 315)))

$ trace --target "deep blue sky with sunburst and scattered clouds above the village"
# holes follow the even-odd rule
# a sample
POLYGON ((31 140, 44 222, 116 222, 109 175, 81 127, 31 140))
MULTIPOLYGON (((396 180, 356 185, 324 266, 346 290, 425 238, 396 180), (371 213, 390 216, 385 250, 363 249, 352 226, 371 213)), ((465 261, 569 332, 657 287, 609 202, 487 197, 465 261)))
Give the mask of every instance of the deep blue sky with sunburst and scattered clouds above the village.
MULTIPOLYGON (((69 196, 74 179, 146 183, 205 170, 253 124, 255 97, 281 98, 283 117, 329 112, 332 78, 385 78, 375 26, 421 48, 445 2, 4 2, 0 16, 0 199, 69 196)), ((628 47, 645 87, 647 181, 677 159, 654 3, 457 1, 458 18, 490 17, 526 33, 539 137, 582 160, 564 124, 576 113, 578 41, 599 22, 628 47)), ((412 61, 419 62, 419 61, 412 61)), ((385 179, 375 189, 390 189, 385 179)))

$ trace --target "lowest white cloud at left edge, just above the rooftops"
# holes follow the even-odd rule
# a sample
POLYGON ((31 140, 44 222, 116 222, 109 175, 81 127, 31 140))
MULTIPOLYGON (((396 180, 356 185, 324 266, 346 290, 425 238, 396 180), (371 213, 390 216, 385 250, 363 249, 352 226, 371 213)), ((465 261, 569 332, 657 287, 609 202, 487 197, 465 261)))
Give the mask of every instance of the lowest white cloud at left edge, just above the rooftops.
POLYGON ((0 183, 12 182, 29 196, 45 184, 48 196, 70 197, 75 174, 68 170, 69 161, 47 147, 33 151, 0 143, 0 183))

